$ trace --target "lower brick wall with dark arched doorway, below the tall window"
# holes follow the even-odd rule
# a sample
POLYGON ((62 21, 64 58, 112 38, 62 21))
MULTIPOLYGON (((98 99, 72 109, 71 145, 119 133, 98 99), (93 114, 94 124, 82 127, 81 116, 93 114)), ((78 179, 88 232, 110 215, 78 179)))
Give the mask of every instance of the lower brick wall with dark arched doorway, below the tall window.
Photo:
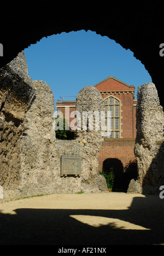
POLYGON ((105 139, 98 155, 99 172, 114 172, 113 191, 126 193, 131 179, 137 178, 137 163, 134 156, 135 139, 105 139))

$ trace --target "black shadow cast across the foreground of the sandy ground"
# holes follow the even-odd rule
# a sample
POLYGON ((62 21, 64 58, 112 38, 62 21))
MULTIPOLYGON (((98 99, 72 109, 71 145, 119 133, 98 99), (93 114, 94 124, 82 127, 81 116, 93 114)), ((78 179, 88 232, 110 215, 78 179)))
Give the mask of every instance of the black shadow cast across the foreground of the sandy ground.
POLYGON ((164 200, 159 196, 134 197, 127 210, 15 209, 0 213, 1 245, 161 245, 164 244, 164 200), (152 201, 153 199, 153 201, 152 201), (98 227, 71 216, 99 216, 124 220, 145 230, 98 227))

